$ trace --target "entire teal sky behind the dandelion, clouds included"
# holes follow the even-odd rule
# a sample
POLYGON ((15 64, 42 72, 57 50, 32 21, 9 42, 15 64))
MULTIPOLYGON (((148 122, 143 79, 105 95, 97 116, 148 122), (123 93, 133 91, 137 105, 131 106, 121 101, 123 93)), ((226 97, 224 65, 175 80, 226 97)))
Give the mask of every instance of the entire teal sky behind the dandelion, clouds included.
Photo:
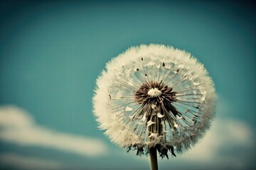
POLYGON ((216 117, 159 169, 256 169, 255 5, 239 1, 1 1, 0 169, 149 169, 98 130, 95 80, 128 47, 191 52, 216 117))

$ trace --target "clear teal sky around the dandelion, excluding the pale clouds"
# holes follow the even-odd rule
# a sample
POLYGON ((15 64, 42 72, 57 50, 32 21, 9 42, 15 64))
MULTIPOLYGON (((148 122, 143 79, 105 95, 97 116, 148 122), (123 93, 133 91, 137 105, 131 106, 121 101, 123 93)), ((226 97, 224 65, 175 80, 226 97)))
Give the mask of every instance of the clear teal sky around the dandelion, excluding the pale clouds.
MULTIPOLYGON (((250 2, 1 1, 0 6, 0 105, 24 108, 47 128, 100 138, 111 153, 81 157, 4 141, 0 152, 54 159, 67 169, 149 169, 134 152, 119 157, 125 150, 97 129, 91 101, 105 63, 130 46, 149 43, 197 57, 215 82, 217 118, 245 122, 255 134, 255 5, 250 2), (225 103, 232 111, 221 111, 225 103)), ((245 169, 256 167, 255 152, 253 147, 242 154, 245 169)), ((191 166, 201 167, 159 160, 160 169, 191 166)))

